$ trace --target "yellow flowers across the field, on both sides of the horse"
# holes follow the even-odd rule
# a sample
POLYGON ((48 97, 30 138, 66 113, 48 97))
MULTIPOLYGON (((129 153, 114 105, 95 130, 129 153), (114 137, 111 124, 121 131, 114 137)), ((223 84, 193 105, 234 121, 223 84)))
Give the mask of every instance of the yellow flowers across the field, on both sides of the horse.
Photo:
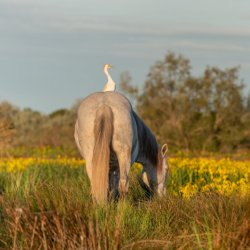
MULTIPOLYGON (((82 168, 85 162, 77 158, 57 156, 56 158, 25 157, 2 158, 0 173, 19 173, 30 168, 46 169, 82 168)), ((169 159, 171 178, 167 181, 168 191, 175 195, 191 197, 198 192, 218 192, 222 195, 250 193, 250 161, 229 158, 177 158, 169 159)), ((132 167, 140 173, 140 164, 132 167)))

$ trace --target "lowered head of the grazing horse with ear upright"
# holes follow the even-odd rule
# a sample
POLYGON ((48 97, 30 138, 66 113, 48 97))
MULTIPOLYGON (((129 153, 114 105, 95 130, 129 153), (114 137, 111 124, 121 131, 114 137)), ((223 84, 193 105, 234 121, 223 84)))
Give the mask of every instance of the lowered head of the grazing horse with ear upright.
POLYGON ((157 193, 163 196, 166 193, 166 178, 169 175, 169 165, 167 159, 168 145, 164 144, 158 152, 157 165, 157 193))

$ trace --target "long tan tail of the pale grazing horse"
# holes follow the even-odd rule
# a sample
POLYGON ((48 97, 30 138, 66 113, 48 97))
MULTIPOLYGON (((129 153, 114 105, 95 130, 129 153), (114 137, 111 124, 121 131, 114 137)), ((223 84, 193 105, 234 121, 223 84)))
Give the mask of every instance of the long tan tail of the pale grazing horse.
POLYGON ((113 112, 107 105, 96 111, 95 145, 92 159, 92 195, 96 202, 107 201, 109 188, 110 145, 113 134, 113 112))

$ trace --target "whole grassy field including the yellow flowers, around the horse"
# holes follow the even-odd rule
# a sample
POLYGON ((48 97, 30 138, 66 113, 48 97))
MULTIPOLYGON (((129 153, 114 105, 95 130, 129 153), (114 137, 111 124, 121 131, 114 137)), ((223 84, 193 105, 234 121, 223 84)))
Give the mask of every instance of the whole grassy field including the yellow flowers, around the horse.
POLYGON ((135 165, 128 197, 96 206, 82 160, 0 159, 0 249, 250 249, 250 161, 169 162, 166 197, 135 165))

